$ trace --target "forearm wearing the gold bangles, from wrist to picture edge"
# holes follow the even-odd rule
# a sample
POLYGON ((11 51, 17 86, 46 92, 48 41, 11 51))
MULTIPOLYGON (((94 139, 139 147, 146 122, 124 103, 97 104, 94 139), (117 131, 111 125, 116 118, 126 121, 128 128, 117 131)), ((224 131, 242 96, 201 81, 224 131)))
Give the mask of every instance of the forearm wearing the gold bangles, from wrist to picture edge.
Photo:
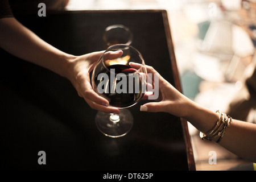
MULTIPOLYGON (((199 131, 206 133, 216 125, 218 113, 195 102, 187 105, 189 113, 184 118, 199 131)), ((218 144, 242 158, 256 162, 256 125, 232 119, 231 126, 226 128, 224 137, 218 144)))

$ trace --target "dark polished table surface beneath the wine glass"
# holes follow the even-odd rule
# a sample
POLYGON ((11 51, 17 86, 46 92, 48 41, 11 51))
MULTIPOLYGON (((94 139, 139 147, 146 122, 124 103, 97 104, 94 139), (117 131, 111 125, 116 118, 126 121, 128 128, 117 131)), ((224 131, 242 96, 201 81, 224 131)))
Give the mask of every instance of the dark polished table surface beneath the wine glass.
MULTIPOLYGON (((73 55, 104 49, 102 34, 111 24, 133 32, 131 46, 145 63, 180 90, 165 10, 18 13, 16 18, 46 42, 73 55)), ((121 138, 98 131, 91 109, 72 84, 37 65, 1 56, 1 169, 194 170, 187 121, 167 113, 130 107, 131 131, 121 138), (38 152, 46 152, 46 165, 38 152)), ((28 52, 29 53, 29 52, 28 52)))

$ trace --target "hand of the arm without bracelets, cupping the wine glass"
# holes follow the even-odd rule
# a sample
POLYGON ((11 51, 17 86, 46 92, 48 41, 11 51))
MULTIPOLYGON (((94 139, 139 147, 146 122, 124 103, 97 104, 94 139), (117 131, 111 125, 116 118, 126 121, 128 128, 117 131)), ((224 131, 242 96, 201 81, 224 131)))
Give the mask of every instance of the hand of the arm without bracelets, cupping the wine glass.
MULTIPOLYGON (((84 98, 92 109, 104 111, 105 113, 118 114, 119 109, 110 107, 109 101, 94 92, 90 84, 89 74, 93 70, 98 59, 100 59, 102 53, 104 53, 104 51, 76 56, 69 61, 66 68, 67 72, 64 75, 72 82, 79 96, 84 98)), ((116 51, 110 53, 108 56, 109 59, 115 59, 121 55, 122 51, 116 51)))

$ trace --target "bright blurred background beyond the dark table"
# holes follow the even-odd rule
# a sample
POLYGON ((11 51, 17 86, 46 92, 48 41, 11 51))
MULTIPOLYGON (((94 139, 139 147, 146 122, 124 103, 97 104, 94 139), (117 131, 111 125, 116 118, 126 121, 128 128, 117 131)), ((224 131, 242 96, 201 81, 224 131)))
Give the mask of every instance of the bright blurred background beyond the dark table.
MULTIPOLYGON (((165 9, 168 13, 185 96, 214 111, 228 111, 246 92, 254 71, 256 0, 69 0, 67 10, 165 9)), ((254 102, 255 103, 255 102, 254 102)), ((254 104, 255 105, 255 104, 254 104)), ((254 122, 255 106, 246 122, 254 122)), ((216 143, 199 138, 189 124, 197 170, 227 170, 247 162, 216 143), (217 164, 209 164, 216 151, 217 164)))

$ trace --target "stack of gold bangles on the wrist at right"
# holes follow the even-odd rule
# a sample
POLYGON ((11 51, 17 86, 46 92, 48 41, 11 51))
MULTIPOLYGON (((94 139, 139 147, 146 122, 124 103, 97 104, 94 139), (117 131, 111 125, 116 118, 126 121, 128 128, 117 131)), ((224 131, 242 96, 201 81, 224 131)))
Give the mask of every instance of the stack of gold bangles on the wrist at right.
POLYGON ((221 113, 220 110, 217 110, 216 113, 219 114, 216 125, 205 134, 200 132, 200 137, 203 140, 214 140, 218 143, 224 136, 226 127, 230 127, 232 118, 229 115, 227 116, 226 114, 221 113))

